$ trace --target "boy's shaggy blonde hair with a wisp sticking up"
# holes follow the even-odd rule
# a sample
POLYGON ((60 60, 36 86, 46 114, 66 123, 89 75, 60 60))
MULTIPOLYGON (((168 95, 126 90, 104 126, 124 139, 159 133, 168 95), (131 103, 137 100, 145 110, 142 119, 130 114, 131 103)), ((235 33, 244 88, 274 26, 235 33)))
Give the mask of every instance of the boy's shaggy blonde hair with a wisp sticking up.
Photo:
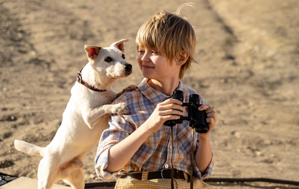
POLYGON ((156 50, 159 54, 165 53, 170 61, 179 61, 183 54, 188 54, 186 63, 181 67, 179 79, 183 78, 192 62, 197 63, 194 59, 195 32, 189 21, 179 15, 182 6, 176 13, 163 10, 153 15, 141 26, 136 37, 137 50, 156 50))

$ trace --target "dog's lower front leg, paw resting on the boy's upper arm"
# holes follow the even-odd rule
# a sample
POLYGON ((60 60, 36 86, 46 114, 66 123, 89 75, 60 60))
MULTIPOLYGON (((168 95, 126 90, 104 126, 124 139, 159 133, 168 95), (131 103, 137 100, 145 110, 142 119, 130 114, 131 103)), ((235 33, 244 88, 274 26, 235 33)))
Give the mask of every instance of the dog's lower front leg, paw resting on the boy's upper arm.
POLYGON ((103 115, 128 114, 129 109, 125 103, 106 104, 92 110, 82 111, 82 116, 89 128, 93 129, 103 115))

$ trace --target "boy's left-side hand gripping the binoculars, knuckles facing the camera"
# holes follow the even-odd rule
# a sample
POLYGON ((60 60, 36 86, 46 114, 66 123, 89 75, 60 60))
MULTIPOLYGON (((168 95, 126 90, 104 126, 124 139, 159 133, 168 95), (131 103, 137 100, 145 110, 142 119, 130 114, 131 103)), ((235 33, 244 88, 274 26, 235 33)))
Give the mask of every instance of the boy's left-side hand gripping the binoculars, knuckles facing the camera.
POLYGON ((181 101, 173 98, 159 103, 149 116, 149 119, 145 122, 148 129, 150 129, 152 133, 155 133, 165 121, 179 119, 180 115, 183 115, 184 110, 181 104, 181 101))

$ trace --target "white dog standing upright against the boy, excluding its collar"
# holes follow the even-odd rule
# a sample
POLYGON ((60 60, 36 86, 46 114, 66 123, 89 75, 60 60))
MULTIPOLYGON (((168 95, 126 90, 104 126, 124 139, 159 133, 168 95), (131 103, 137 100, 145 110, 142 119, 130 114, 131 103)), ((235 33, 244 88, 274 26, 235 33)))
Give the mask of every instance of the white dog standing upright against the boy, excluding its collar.
POLYGON ((129 86, 118 94, 111 89, 119 78, 132 73, 132 66, 124 60, 124 42, 129 40, 117 41, 106 48, 85 45, 89 62, 82 70, 82 80, 106 92, 92 91, 76 82, 61 126, 49 145, 43 148, 14 141, 17 150, 43 157, 38 166, 38 189, 50 189, 60 179, 73 189, 84 189, 83 157, 107 128, 109 114, 129 113, 124 103, 112 105, 111 102, 137 88, 129 86))

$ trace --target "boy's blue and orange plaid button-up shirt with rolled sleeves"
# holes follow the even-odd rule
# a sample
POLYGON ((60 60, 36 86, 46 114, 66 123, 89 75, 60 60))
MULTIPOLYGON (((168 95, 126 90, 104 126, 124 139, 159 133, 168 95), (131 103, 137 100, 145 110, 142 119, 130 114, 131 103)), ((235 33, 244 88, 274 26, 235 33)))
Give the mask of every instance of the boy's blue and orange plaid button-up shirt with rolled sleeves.
MULTIPOLYGON (((125 167, 117 172, 109 173, 105 171, 108 165, 109 149, 118 142, 125 139, 142 125, 153 112, 158 103, 170 98, 152 89, 144 79, 137 91, 125 93, 116 100, 115 103, 125 102, 130 110, 128 115, 111 115, 108 129, 104 130, 95 157, 95 168, 97 175, 104 181, 112 177, 119 178, 121 175, 134 171, 159 171, 164 168, 171 168, 171 137, 170 127, 162 125, 161 128, 151 134, 149 138, 133 155, 125 167)), ((198 94, 195 90, 182 85, 179 81, 177 90, 184 92, 184 102, 189 100, 190 94, 198 94)), ((200 96, 200 103, 206 102, 200 96)), ((184 116, 187 113, 184 112, 184 116)), ((177 170, 191 173, 191 145, 192 128, 188 121, 173 126, 173 148, 172 164, 177 170)), ((195 131, 194 131, 195 132, 195 131)), ((199 136, 194 133, 194 176, 201 180, 208 178, 213 170, 213 158, 204 175, 201 175, 195 163, 195 154, 198 148, 199 136)))

